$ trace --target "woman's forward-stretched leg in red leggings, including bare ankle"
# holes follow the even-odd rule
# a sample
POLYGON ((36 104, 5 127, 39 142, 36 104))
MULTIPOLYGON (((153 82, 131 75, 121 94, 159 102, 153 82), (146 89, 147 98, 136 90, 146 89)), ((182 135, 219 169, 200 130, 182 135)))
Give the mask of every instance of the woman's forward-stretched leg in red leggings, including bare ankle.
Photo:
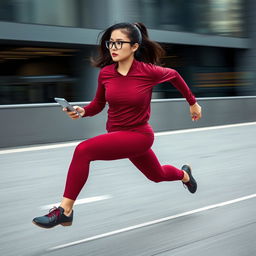
POLYGON ((72 209, 88 178, 91 161, 136 157, 146 152, 152 144, 153 137, 132 131, 107 133, 80 143, 75 149, 69 167, 62 201, 63 208, 67 209, 67 212, 72 209))

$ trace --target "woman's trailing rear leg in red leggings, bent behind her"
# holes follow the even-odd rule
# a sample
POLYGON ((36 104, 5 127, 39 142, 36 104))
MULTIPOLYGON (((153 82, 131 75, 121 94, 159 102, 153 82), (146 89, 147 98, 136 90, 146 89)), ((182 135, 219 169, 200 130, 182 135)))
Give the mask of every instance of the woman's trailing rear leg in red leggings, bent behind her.
POLYGON ((187 173, 172 165, 161 166, 152 149, 140 156, 131 157, 130 161, 150 180, 154 182, 188 179, 187 173))

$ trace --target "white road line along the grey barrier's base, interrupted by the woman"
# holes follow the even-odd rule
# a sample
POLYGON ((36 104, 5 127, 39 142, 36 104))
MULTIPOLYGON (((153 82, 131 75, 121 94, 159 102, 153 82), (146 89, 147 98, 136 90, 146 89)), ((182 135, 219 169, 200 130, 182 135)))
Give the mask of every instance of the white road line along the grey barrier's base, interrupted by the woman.
MULTIPOLYGON (((167 132, 156 132, 155 136, 157 137, 157 136, 165 136, 165 135, 171 135, 171 134, 180 134, 180 133, 189 133, 189 132, 201 132, 201 131, 225 129, 225 128, 232 128, 232 127, 248 126, 248 125, 256 125, 256 122, 218 125, 218 126, 192 128, 192 129, 183 129, 183 130, 175 130, 175 131, 167 131, 167 132)), ((27 151, 45 150, 45 149, 73 147, 73 146, 76 146, 80 142, 82 142, 82 141, 66 142, 66 143, 56 143, 56 144, 51 144, 51 145, 22 147, 22 148, 14 148, 14 149, 4 149, 4 150, 0 150, 0 155, 10 154, 10 153, 27 152, 27 151)))

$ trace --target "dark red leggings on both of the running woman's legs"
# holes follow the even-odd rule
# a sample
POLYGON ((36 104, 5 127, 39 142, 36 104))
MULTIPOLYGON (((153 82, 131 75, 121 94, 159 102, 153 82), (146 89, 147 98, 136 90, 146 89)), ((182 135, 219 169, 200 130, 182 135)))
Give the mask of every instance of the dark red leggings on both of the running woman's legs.
POLYGON ((76 200, 88 178, 90 162, 95 160, 129 158, 154 182, 183 179, 183 171, 171 165, 160 165, 151 149, 153 141, 153 133, 117 131, 81 142, 75 149, 63 196, 76 200))

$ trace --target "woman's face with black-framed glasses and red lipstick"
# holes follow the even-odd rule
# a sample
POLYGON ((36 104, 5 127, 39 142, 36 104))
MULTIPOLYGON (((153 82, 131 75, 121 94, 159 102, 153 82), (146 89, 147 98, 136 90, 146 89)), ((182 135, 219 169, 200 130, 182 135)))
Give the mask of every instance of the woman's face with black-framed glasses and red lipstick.
POLYGON ((109 49, 112 60, 115 62, 122 62, 133 57, 135 51, 138 49, 138 44, 122 43, 131 42, 127 34, 123 33, 121 29, 112 31, 110 42, 116 42, 113 45, 110 43, 112 48, 109 49))

